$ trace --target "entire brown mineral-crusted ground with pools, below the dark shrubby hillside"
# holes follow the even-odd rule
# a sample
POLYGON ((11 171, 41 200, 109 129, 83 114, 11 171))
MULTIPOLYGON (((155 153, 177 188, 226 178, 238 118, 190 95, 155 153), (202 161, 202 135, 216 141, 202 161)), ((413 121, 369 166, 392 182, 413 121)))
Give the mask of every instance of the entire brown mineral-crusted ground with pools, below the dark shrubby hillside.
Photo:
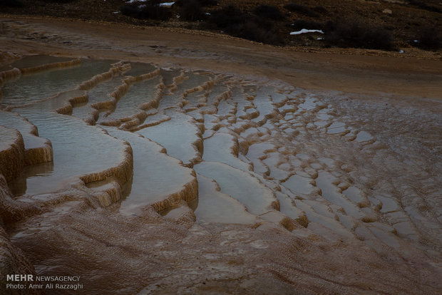
POLYGON ((440 60, 0 21, 1 294, 441 291, 440 60))

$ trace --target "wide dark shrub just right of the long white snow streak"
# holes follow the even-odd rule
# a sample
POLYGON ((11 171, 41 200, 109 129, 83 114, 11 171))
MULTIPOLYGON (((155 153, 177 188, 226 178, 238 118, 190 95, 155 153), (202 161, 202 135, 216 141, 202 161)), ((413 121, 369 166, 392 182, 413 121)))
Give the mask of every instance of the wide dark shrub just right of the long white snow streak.
POLYGON ((391 33, 357 22, 327 22, 325 41, 329 46, 393 50, 391 33))

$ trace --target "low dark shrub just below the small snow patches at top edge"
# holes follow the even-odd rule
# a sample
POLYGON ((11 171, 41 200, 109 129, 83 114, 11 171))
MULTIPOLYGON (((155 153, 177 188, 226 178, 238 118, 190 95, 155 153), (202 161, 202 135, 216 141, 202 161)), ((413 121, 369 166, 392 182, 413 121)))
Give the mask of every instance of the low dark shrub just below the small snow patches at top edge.
POLYGON ((136 19, 157 19, 164 21, 172 15, 170 9, 156 4, 127 4, 121 6, 120 11, 125 16, 135 17, 136 19))

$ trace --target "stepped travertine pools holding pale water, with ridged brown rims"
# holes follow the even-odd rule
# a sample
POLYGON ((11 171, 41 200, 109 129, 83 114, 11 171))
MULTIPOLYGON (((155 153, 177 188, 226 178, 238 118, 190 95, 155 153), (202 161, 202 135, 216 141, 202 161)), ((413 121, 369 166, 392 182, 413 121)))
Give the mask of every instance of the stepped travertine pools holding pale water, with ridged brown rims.
POLYGON ((28 56, 4 68, 21 74, 1 86, 1 138, 16 129, 25 150, 50 141, 53 152, 9 180, 17 200, 76 189, 123 215, 190 208, 200 223, 441 250, 437 112, 222 73, 68 61, 28 56), (130 175, 118 169, 125 161, 130 175))

